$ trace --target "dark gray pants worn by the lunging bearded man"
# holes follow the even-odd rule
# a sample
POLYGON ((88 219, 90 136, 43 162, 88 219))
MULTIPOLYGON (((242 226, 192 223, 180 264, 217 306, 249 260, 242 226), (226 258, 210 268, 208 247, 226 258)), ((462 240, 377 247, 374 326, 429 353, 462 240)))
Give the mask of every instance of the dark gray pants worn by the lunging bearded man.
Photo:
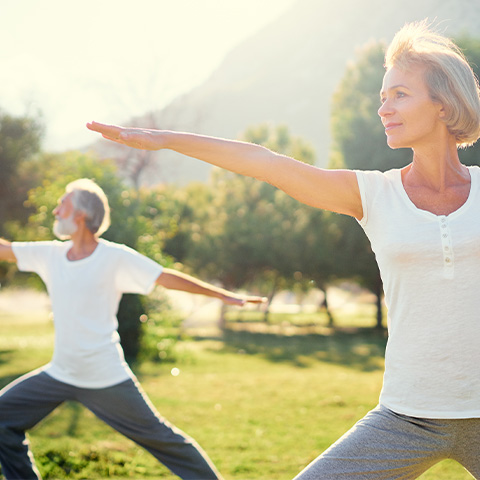
POLYGON ((0 463, 9 480, 36 480, 25 431, 65 400, 80 402, 184 479, 221 478, 195 441, 160 417, 138 382, 101 389, 77 388, 34 371, 0 392, 0 463))

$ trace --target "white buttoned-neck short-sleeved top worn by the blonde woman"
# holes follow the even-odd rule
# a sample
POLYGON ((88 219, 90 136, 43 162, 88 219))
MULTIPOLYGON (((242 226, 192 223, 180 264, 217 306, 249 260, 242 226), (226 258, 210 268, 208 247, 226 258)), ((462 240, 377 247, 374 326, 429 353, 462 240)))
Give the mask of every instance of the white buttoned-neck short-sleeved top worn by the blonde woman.
POLYGON ((380 403, 426 418, 480 417, 480 169, 448 216, 420 210, 401 171, 357 172, 383 280, 389 339, 380 403))

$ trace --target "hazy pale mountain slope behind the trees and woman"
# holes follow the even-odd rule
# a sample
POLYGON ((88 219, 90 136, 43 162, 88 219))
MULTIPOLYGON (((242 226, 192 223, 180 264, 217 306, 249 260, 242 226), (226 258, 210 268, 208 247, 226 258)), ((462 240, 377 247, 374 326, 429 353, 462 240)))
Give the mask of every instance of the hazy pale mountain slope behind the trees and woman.
MULTIPOLYGON (((324 166, 330 100, 348 62, 366 43, 388 43, 405 22, 424 18, 450 37, 476 35, 480 2, 298 0, 285 15, 233 49, 203 85, 128 123, 227 138, 238 138, 251 125, 285 124, 313 145, 317 164, 324 166)), ((117 148, 95 145, 102 156, 118 155, 117 148)), ((143 173, 144 183, 208 178, 208 165, 172 152, 155 156, 161 163, 143 173)))

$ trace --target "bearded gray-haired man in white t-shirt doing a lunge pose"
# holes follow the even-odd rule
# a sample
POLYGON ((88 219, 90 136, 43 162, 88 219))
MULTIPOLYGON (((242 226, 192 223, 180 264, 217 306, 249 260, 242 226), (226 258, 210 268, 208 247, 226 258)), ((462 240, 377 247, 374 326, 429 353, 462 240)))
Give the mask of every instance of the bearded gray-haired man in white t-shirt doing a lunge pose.
POLYGON ((55 323, 51 362, 0 392, 0 462, 7 479, 39 479, 25 431, 65 400, 75 400, 132 439, 181 478, 220 474, 195 441, 163 419, 126 364, 116 312, 123 293, 148 294, 155 285, 220 298, 232 305, 259 303, 201 282, 100 235, 110 225, 107 198, 93 181, 66 187, 54 209, 62 240, 0 239, 0 260, 36 272, 47 286, 55 323))

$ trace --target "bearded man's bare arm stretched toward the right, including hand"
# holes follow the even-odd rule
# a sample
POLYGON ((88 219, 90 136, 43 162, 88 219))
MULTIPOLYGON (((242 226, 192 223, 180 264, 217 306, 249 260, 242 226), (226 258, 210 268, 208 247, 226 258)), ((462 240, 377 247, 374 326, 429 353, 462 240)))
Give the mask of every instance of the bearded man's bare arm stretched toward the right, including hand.
POLYGON ((171 268, 165 268, 155 283, 171 290, 182 290, 184 292, 219 298, 229 305, 242 306, 245 303, 263 303, 267 300, 265 297, 239 295, 229 292, 171 268))

